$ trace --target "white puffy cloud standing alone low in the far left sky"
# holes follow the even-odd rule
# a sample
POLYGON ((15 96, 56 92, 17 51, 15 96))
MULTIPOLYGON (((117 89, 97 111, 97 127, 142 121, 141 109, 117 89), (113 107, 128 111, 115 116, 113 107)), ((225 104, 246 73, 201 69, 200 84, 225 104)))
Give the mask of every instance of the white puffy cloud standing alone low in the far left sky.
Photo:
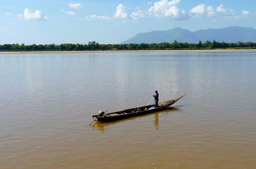
POLYGON ((44 21, 48 20, 48 17, 44 15, 44 13, 40 10, 36 10, 36 12, 32 12, 32 10, 26 8, 24 10, 24 14, 19 14, 19 18, 24 20, 35 20, 35 21, 44 21))

